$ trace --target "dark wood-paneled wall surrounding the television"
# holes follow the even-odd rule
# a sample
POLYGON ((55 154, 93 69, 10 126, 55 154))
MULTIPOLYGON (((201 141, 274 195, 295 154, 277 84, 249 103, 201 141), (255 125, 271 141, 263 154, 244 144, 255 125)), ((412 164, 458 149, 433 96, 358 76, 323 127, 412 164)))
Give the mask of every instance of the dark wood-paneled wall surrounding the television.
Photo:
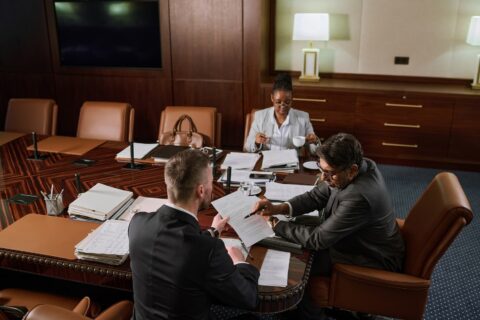
POLYGON ((243 143, 245 110, 261 105, 270 0, 159 0, 162 69, 59 64, 53 0, 0 0, 0 128, 13 97, 53 98, 58 134, 75 135, 87 100, 126 101, 135 139, 154 141, 168 105, 217 107, 224 147, 243 143))

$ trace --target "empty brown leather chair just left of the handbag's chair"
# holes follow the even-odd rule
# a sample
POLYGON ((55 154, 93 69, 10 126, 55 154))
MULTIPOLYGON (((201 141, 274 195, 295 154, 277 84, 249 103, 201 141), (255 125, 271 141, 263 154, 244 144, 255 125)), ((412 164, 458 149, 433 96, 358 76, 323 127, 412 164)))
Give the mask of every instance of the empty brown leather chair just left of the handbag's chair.
POLYGON ((77 137, 133 141, 135 110, 124 102, 86 101, 80 109, 77 137))

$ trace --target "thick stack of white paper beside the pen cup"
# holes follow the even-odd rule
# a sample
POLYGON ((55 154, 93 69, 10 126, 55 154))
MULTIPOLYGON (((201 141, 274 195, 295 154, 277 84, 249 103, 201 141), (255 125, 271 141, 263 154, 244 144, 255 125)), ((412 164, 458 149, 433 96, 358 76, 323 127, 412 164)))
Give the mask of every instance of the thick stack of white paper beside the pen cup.
POLYGON ((131 191, 97 183, 70 204, 68 214, 105 221, 120 210, 132 196, 131 191))

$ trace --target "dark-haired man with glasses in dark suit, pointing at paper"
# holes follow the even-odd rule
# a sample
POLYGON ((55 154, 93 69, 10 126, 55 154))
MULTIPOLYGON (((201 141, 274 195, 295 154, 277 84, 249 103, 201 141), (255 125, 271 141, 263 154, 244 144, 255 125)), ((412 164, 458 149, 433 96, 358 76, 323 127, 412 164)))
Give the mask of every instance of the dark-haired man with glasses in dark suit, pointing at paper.
MULTIPOLYGON (((260 212, 265 216, 322 213, 317 226, 270 217, 276 235, 317 251, 312 275, 330 275, 334 263, 401 271, 404 242, 375 162, 363 158, 360 142, 346 133, 328 138, 317 155, 320 184, 279 205, 260 200, 254 210, 263 208, 260 212)), ((308 297, 302 305, 313 313, 308 297)))

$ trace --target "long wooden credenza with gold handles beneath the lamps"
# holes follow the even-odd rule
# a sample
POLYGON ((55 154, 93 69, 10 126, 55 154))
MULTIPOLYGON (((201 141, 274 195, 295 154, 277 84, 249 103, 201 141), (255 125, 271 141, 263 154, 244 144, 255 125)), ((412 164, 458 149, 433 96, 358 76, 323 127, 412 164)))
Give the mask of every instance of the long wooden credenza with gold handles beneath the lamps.
POLYGON ((293 96, 322 140, 348 132, 378 162, 480 170, 480 92, 466 84, 294 80, 293 96))

